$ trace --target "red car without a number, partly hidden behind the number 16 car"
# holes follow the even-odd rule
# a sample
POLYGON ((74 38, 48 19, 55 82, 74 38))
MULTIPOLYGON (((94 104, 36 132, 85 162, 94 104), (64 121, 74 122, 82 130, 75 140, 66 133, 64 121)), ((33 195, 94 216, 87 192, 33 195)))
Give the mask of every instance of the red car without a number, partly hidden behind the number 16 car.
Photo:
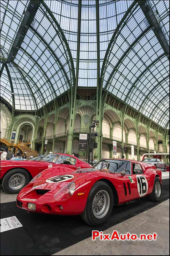
MULTIPOLYGON (((30 180, 43 170, 64 166, 74 171, 80 168, 91 168, 79 158, 67 154, 49 154, 40 161, 1 161, 1 184, 5 192, 18 194, 30 180)), ((55 172, 55 174, 57 174, 55 172)))

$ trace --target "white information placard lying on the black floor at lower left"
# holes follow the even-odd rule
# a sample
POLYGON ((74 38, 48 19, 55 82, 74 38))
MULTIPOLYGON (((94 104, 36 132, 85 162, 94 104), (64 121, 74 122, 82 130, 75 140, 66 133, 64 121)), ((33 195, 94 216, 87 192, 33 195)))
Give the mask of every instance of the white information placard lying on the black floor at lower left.
POLYGON ((22 224, 19 222, 16 216, 1 219, 1 232, 21 227, 22 224))

